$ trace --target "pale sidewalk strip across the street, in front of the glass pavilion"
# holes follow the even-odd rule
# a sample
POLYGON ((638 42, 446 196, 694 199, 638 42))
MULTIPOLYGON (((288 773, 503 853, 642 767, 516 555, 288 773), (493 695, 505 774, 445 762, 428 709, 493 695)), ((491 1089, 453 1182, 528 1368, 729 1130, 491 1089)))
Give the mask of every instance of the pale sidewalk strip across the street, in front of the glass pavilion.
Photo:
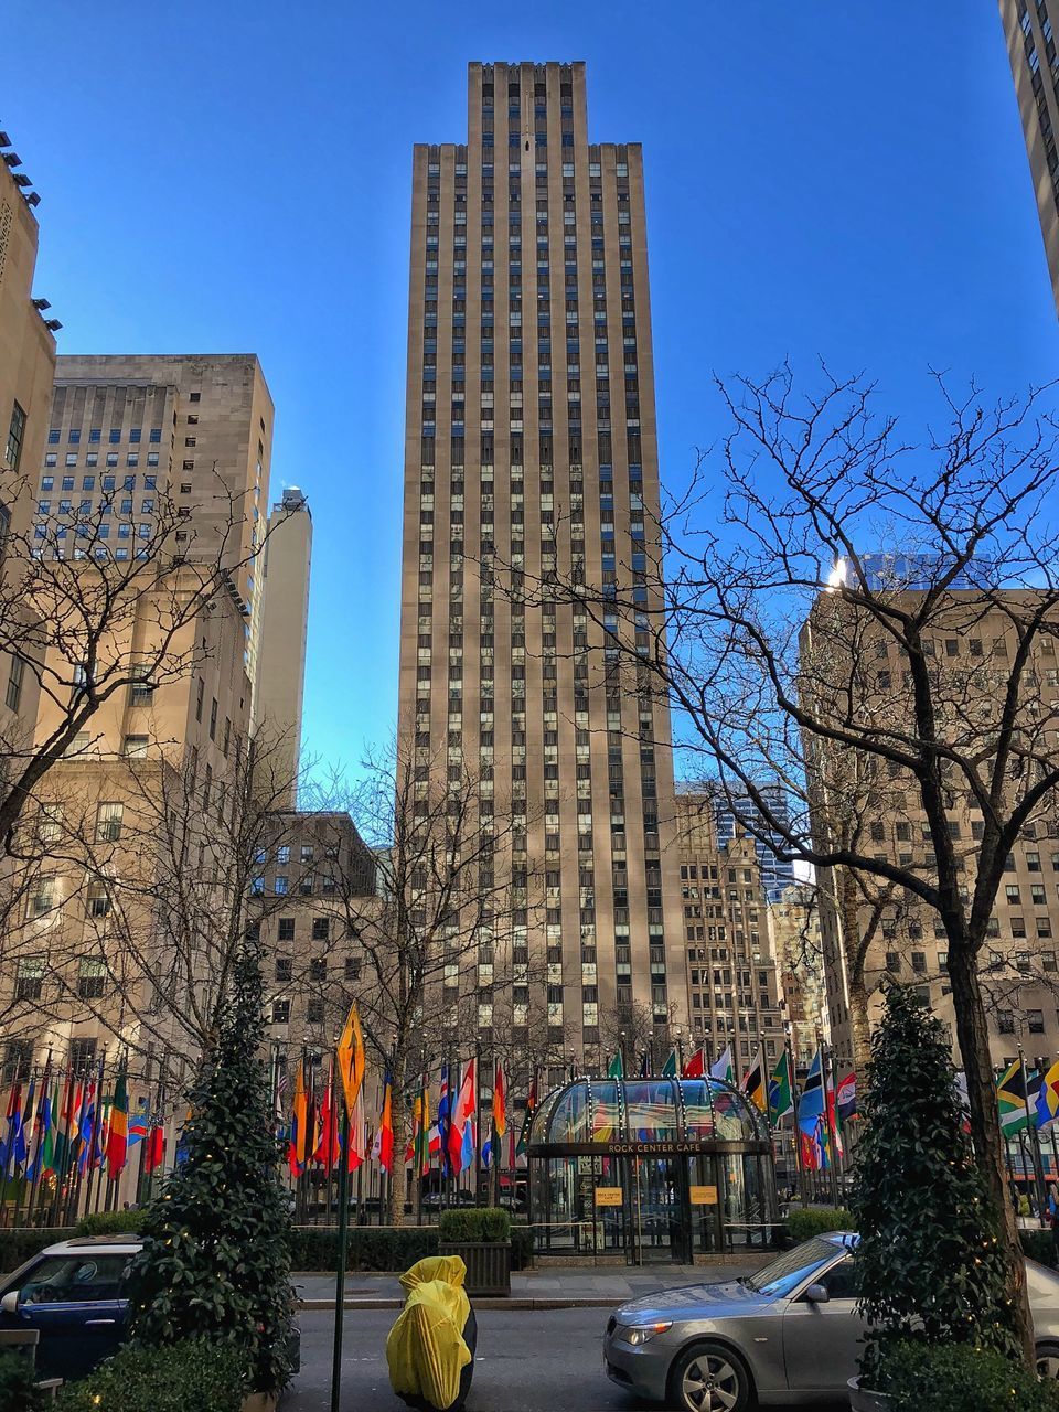
MULTIPOLYGON (((541 1265, 511 1275, 510 1299, 476 1299, 476 1309, 609 1309, 627 1299, 679 1285, 702 1285, 751 1275, 772 1260, 774 1251, 730 1257, 710 1265, 570 1267, 541 1265)), ((335 1308, 335 1275, 291 1276, 301 1309, 335 1308)), ((400 1309, 397 1275, 346 1276, 346 1309, 400 1309)))

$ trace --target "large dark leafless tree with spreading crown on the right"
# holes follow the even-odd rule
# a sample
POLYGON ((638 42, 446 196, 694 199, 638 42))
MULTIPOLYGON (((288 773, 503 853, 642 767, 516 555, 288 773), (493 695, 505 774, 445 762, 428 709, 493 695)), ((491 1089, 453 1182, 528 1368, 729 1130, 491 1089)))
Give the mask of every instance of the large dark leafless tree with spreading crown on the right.
POLYGON ((719 384, 717 472, 703 457, 659 527, 665 606, 644 611, 631 575, 606 603, 635 645, 599 590, 563 589, 672 700, 743 826, 820 871, 854 973, 873 911, 936 923, 1029 1348, 979 960, 1008 854, 1056 834, 1056 426, 1042 393, 987 407, 938 387, 946 426, 914 445, 861 378, 719 384), (789 818, 777 778, 803 803, 789 818), (891 843, 894 809, 907 856, 873 837, 891 843))

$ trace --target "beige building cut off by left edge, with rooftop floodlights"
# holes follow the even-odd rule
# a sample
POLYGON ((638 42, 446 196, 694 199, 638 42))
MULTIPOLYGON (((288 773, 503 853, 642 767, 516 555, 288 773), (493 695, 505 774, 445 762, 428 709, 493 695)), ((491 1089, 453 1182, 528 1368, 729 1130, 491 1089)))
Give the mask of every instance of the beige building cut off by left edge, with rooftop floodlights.
MULTIPOLYGON (((32 298, 40 230, 30 178, 0 133, 0 546, 24 539, 32 517, 37 466, 48 431, 56 321, 32 298), (10 162, 10 165, 8 165, 10 162)), ((37 719, 37 678, 18 657, 0 661, 0 740, 21 748, 37 719)))

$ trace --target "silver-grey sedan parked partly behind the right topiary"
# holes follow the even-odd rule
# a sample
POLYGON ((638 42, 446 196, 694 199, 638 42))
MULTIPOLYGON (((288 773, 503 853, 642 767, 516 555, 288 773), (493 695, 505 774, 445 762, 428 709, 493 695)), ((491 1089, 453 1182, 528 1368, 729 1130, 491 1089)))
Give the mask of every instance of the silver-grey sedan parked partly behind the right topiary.
MULTIPOLYGON (((682 1412, 847 1396, 864 1322, 853 1248, 833 1233, 784 1251, 755 1275, 668 1289, 623 1305, 603 1340, 607 1374, 682 1412)), ((1027 1261, 1038 1367, 1059 1374, 1059 1275, 1027 1261)))

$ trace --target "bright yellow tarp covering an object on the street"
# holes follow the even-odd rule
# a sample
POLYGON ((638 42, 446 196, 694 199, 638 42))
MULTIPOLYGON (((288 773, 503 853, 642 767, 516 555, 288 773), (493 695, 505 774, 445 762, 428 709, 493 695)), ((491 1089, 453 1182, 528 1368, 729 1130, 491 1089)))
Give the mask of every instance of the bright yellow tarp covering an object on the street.
POLYGON ((460 1370, 470 1363, 463 1341, 470 1313, 466 1274, 459 1255, 431 1255, 407 1269, 404 1309, 385 1340, 394 1392, 422 1398, 439 1412, 456 1401, 460 1370))

